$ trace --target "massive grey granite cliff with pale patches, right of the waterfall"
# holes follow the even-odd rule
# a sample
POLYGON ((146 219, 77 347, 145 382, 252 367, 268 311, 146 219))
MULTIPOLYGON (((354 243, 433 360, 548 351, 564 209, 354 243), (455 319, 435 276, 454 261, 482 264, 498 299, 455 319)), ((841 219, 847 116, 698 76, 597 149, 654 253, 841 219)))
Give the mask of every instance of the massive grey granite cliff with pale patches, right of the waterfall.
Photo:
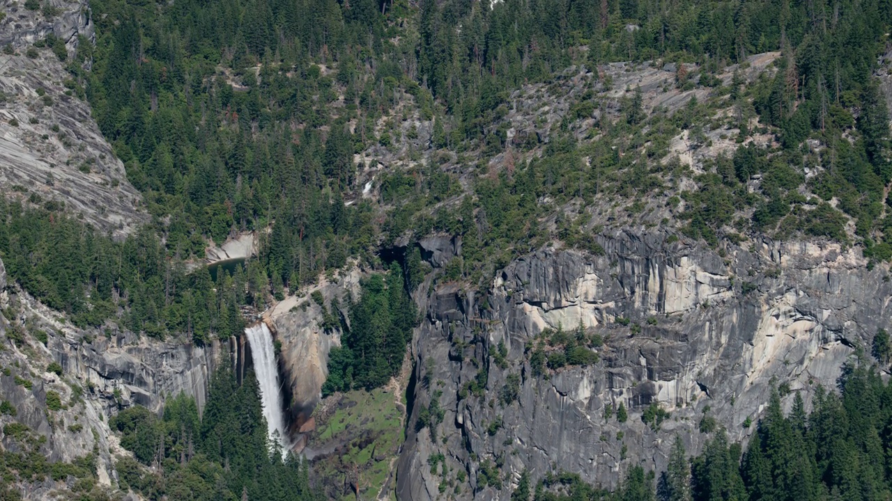
POLYGON ((755 426, 745 423, 755 423, 772 385, 787 405, 796 392, 807 404, 818 385, 835 386, 855 347, 888 327, 888 270, 867 269, 857 250, 768 240, 711 250, 672 240, 601 235, 604 255, 541 250, 508 265, 484 297, 452 283, 419 292, 416 379, 430 386, 417 385, 409 423, 437 395, 445 413, 435 442, 409 427, 398 497, 439 496, 441 473, 426 466, 435 454, 451 472, 467 472, 465 498, 508 499, 524 469, 534 479, 561 469, 614 486, 639 461, 665 468, 675 435, 698 453, 709 437, 698 431, 704 415, 747 439, 755 426), (533 377, 526 343, 544 327, 578 324, 605 340, 599 362, 533 377), (492 358, 500 342, 505 369, 492 358), (483 398, 460 391, 481 372, 483 398), (520 379, 516 401, 502 405, 510 374, 520 379), (626 423, 605 416, 621 403, 626 423), (641 419, 651 404, 670 413, 656 429, 641 419), (478 489, 485 462, 502 464, 503 489, 478 489))

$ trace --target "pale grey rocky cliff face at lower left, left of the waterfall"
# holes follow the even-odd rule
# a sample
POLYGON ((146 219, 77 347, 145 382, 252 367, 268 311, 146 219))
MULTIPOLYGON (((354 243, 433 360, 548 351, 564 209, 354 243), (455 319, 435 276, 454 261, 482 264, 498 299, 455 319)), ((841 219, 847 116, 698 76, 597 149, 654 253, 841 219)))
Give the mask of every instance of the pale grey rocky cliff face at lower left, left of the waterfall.
MULTIPOLYGON (((3 278, 0 262, 0 283, 3 278)), ((5 292, 0 287, 0 307, 4 315, 15 314, 0 316, 0 394, 16 409, 14 416, 0 415, 0 425, 16 421, 46 437, 41 452, 51 461, 70 461, 95 450, 103 485, 116 478, 113 456, 128 454, 109 429, 111 415, 134 404, 161 412, 165 399, 181 392, 202 409, 219 363, 237 364, 235 339, 197 347, 140 338, 113 324, 82 330, 12 287, 5 292), (47 403, 50 392, 59 396, 61 407, 47 403)), ((4 448, 16 450, 14 439, 2 440, 4 448)), ((53 481, 22 487, 33 499, 51 498, 57 489, 53 481)))

